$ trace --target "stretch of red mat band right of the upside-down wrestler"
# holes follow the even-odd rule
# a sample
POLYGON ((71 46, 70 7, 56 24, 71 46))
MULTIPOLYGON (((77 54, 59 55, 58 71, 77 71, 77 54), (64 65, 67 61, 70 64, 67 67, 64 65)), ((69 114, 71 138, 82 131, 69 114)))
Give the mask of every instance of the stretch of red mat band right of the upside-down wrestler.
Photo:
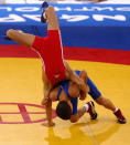
POLYGON ((87 49, 87 48, 64 48, 65 59, 94 61, 106 63, 118 63, 130 65, 130 51, 108 50, 108 49, 87 49))

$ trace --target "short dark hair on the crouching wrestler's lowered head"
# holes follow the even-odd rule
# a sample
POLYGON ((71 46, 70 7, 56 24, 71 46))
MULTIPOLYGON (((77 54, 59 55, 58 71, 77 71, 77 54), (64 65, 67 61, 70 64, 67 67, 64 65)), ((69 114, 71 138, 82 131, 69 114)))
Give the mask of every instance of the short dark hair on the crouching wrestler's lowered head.
POLYGON ((56 106, 56 114, 63 120, 69 120, 72 115, 72 108, 66 101, 59 101, 56 106))

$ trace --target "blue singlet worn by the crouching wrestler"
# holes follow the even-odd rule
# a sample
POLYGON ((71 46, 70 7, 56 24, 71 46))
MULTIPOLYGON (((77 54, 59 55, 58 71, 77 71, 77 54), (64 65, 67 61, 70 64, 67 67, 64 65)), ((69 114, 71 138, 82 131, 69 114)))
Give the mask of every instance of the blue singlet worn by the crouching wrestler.
MULTIPOLYGON (((79 75, 80 71, 76 70, 75 73, 79 75)), ((64 89, 66 95, 71 99, 71 102, 73 104, 73 115, 75 115, 77 113, 78 97, 71 97, 68 93, 68 85, 69 85, 69 81, 62 82, 61 87, 58 90, 57 100, 59 99, 61 92, 64 89)), ((96 85, 93 83, 93 81, 89 77, 87 77, 87 85, 89 86, 89 90, 90 90, 88 94, 94 100, 97 100, 98 97, 101 96, 101 93, 98 91, 98 89, 96 87, 96 85)))

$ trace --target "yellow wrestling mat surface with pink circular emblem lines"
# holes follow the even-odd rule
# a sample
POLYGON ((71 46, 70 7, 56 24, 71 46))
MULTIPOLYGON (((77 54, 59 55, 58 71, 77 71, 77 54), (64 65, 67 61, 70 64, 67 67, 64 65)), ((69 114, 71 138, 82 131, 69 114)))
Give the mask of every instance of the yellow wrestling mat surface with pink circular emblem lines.
POLYGON ((67 62, 74 70, 87 71, 102 95, 121 108, 127 124, 118 124, 110 111, 95 103, 97 121, 86 113, 75 124, 54 116, 54 127, 43 126, 41 61, 6 58, 0 59, 0 145, 130 145, 130 66, 67 62))

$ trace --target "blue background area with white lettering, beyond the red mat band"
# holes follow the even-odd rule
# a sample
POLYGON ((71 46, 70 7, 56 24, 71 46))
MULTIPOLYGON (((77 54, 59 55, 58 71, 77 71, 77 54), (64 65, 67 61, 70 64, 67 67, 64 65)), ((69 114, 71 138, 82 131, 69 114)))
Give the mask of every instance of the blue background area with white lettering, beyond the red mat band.
MULTIPOLYGON (((53 4, 64 46, 130 50, 129 4, 53 4)), ((40 22, 40 4, 0 6, 0 44, 17 44, 4 40, 8 29, 19 29, 35 35, 46 35, 46 24, 40 22)))

